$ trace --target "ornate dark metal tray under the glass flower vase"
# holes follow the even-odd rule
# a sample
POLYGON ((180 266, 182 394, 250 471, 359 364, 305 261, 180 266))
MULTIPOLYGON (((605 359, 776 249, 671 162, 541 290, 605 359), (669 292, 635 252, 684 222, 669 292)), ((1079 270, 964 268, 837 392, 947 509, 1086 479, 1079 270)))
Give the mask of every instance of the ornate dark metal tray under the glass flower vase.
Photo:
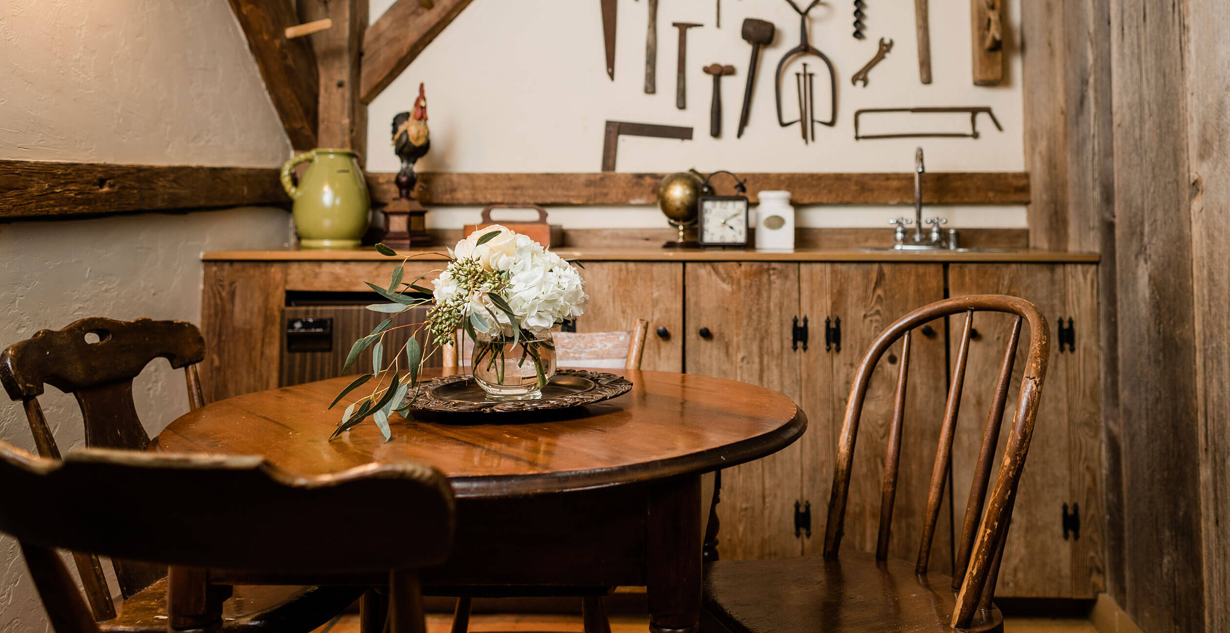
POLYGON ((632 390, 632 381, 599 371, 579 369, 556 370, 542 387, 538 399, 487 399, 487 392, 474 376, 444 376, 415 387, 406 396, 419 411, 438 413, 503 413, 583 407, 622 396, 632 390), (416 401, 415 397, 418 396, 416 401))

